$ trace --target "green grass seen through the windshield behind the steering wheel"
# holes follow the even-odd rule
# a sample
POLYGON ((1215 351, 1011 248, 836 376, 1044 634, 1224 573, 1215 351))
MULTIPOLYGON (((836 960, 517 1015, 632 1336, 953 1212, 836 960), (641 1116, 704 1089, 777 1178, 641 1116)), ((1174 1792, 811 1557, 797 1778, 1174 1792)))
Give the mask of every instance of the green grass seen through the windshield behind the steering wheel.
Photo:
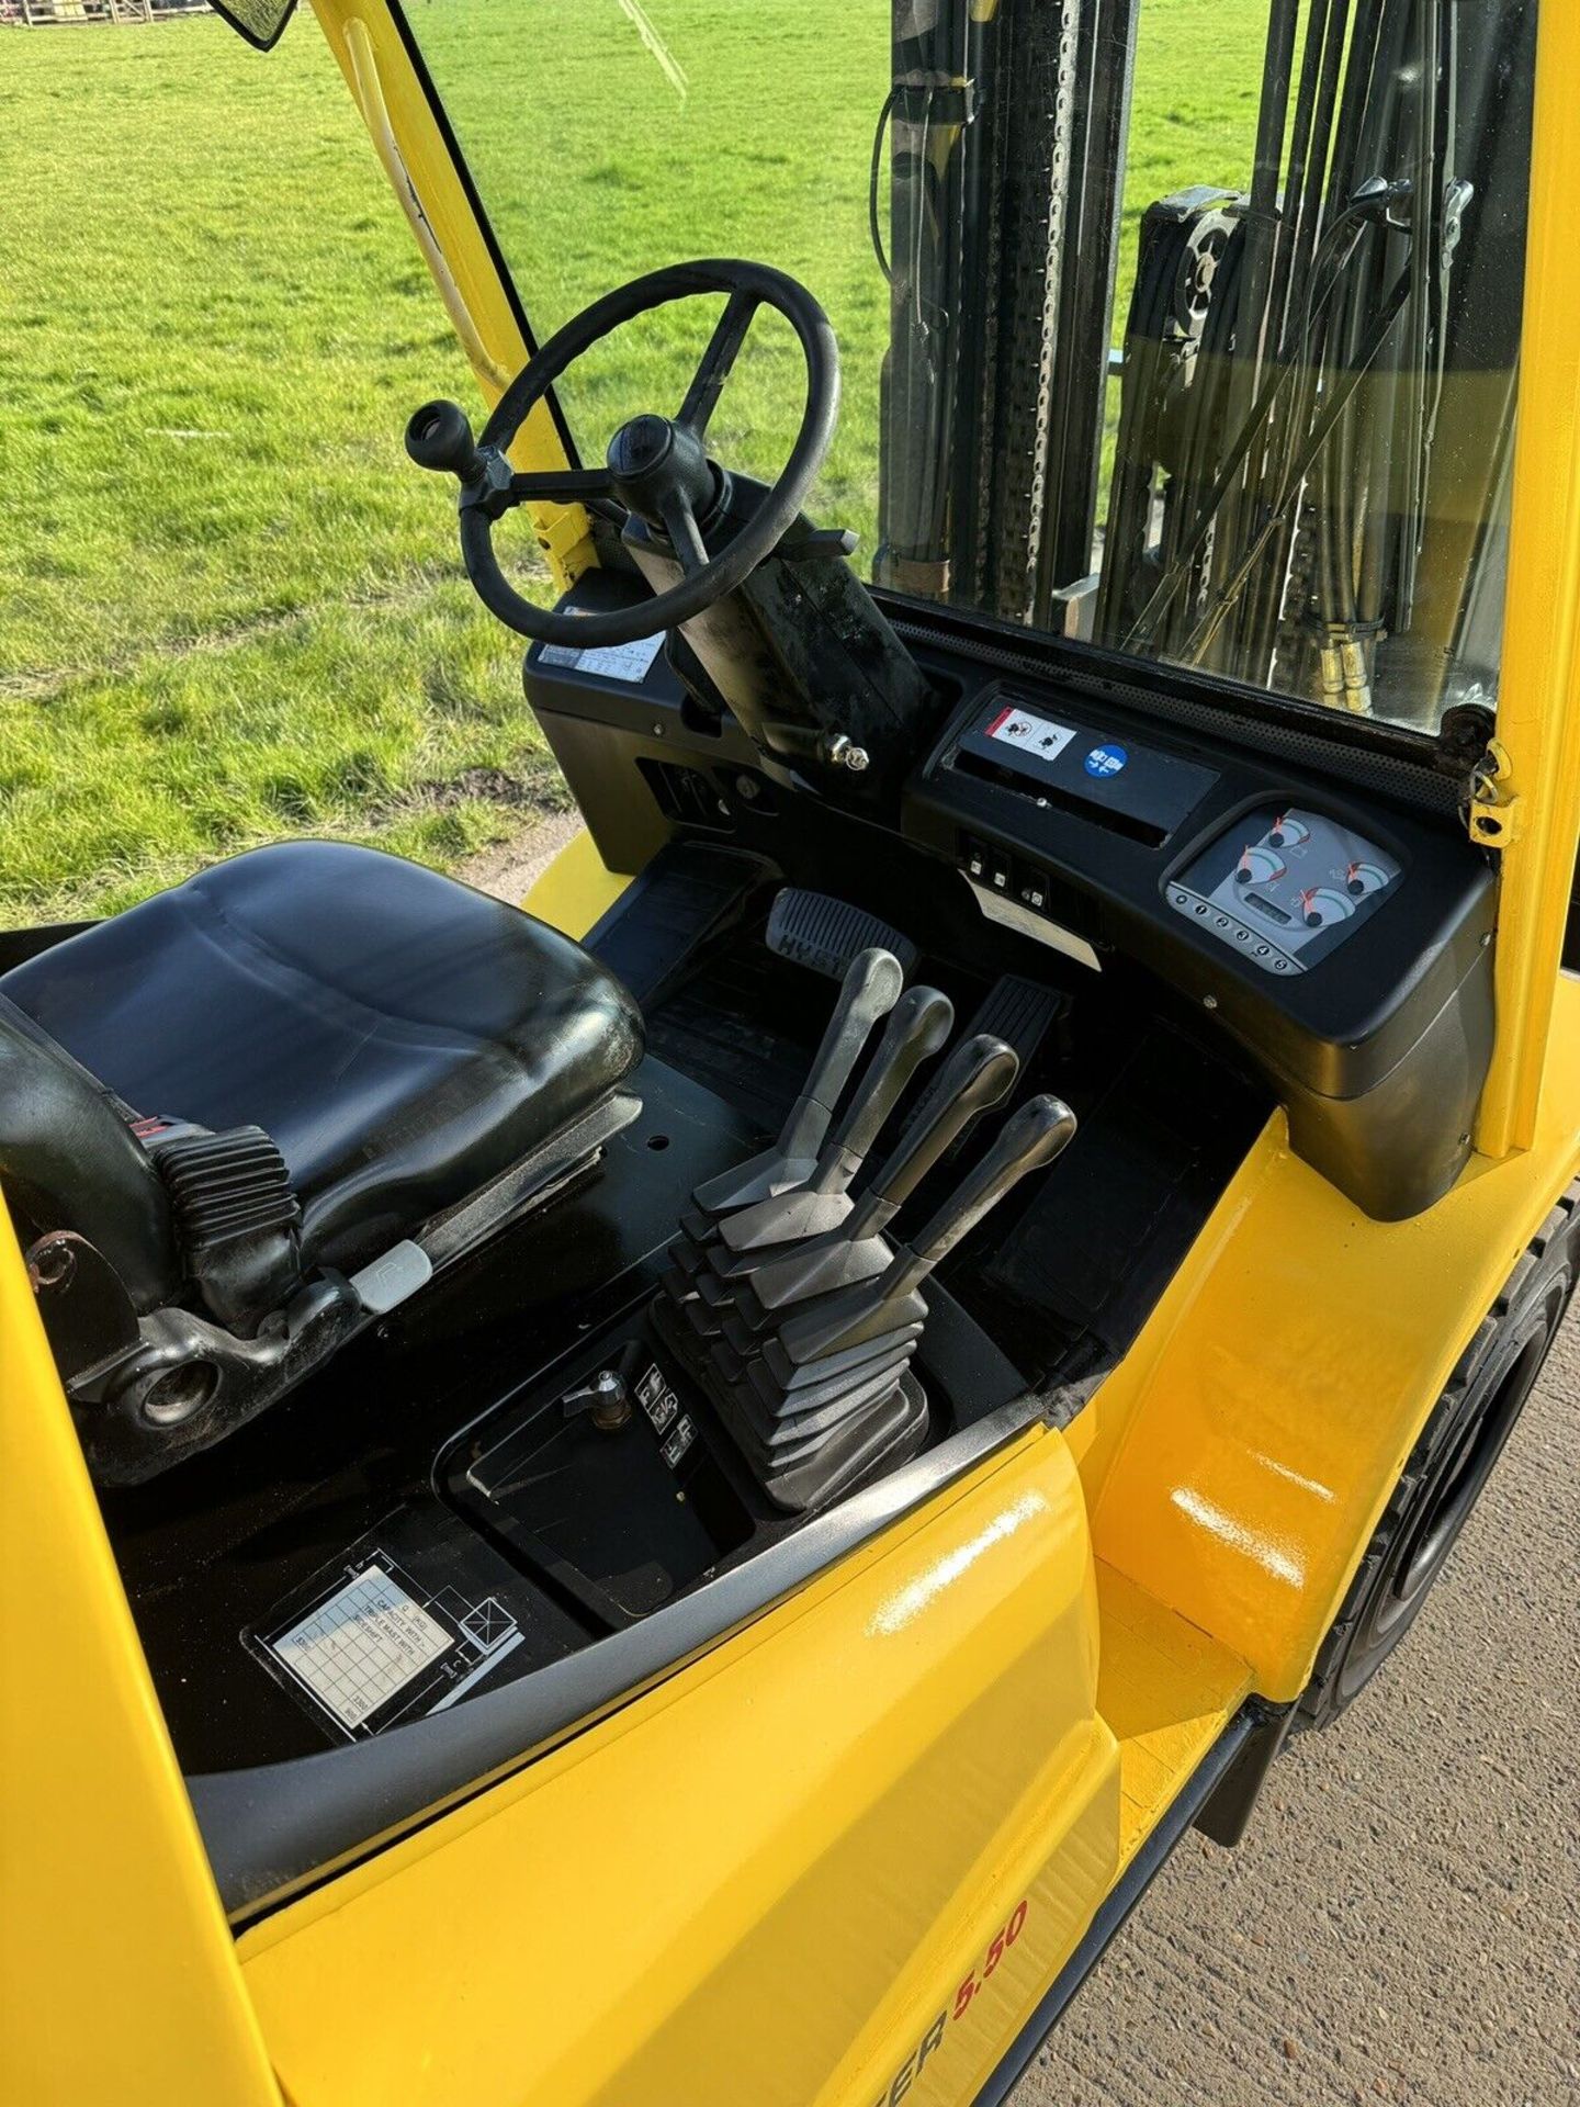
MULTIPOLYGON (((687 76, 685 99, 617 0, 409 0, 539 335, 611 284, 697 255, 763 257, 817 293, 845 386, 813 510, 855 527, 870 556, 889 289, 868 236, 868 175, 889 0, 651 0, 647 15, 687 76)), ((1148 0, 1121 318, 1142 211, 1186 183, 1249 179, 1264 34, 1266 0, 1148 0)), ((695 301, 621 331, 567 377, 573 426, 600 449, 632 409, 678 405, 712 312, 695 301)), ((775 472, 798 381, 794 337, 769 320, 720 398, 718 455, 775 472)))

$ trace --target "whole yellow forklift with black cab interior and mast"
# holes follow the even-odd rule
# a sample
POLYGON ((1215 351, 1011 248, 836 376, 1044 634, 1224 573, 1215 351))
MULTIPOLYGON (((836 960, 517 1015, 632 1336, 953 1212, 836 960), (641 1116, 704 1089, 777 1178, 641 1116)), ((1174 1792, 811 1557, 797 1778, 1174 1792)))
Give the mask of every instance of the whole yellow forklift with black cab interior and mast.
POLYGON ((369 472, 586 830, 525 912, 299 841, 0 936, 0 2090, 986 2107, 1576 1285, 1580 17, 1247 0, 1237 188, 1133 209, 1211 8, 314 11, 482 402, 369 472), (592 306, 457 143, 544 67, 592 306))

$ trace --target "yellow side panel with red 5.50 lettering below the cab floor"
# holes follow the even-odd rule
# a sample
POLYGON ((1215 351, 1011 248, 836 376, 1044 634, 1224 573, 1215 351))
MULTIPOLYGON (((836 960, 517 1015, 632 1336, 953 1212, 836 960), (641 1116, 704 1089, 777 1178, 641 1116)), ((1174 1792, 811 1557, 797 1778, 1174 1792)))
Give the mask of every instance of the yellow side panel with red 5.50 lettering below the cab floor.
POLYGON ((940 2016, 912 2096, 969 2096, 1117 1869, 1095 1631, 1034 1433, 246 1934, 295 2107, 868 2107, 940 2016))

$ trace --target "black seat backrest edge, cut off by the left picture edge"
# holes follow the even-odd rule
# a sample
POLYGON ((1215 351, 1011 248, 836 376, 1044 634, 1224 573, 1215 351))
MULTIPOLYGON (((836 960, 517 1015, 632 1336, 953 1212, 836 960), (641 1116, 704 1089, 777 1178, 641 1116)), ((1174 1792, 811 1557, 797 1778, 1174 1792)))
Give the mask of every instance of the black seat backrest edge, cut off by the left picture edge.
POLYGON ((152 1311, 181 1268, 164 1184, 131 1117, 0 995, 0 1186, 32 1228, 86 1237, 137 1311, 152 1311))

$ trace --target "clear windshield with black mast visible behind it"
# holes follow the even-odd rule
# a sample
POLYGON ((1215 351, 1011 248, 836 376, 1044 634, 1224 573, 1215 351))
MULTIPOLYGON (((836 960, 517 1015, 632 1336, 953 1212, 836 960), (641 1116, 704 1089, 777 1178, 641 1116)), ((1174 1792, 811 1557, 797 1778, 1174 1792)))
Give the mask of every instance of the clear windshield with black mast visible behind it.
MULTIPOLYGON (((407 19, 539 339, 693 255, 811 287, 864 575, 1357 718, 1496 702, 1536 0, 407 19)), ((584 457, 714 318, 567 375, 584 457)), ((765 318, 710 440, 771 476, 798 415, 765 318)))

